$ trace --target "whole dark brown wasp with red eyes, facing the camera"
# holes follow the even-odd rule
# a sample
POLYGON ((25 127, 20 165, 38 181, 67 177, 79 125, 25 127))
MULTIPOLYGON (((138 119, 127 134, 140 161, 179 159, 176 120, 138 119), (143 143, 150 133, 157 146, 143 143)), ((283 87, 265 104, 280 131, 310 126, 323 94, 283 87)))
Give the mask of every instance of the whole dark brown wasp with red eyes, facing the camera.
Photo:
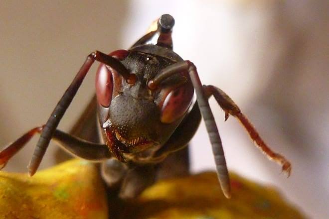
MULTIPOLYGON (((110 54, 95 51, 87 56, 48 121, 32 128, 0 152, 1 168, 35 134, 40 138, 28 166, 33 176, 50 140, 70 154, 101 163, 101 175, 109 187, 119 185, 119 196, 134 198, 152 185, 168 156, 179 154, 191 140, 201 117, 209 135, 218 180, 225 197, 231 197, 230 180, 221 139, 208 99, 213 96, 225 112, 236 117, 251 139, 288 176, 291 164, 273 152, 232 99, 219 88, 202 85, 195 65, 172 50, 174 19, 157 20, 157 28, 128 50, 110 54), (57 129, 92 64, 96 72, 96 106, 99 142, 87 141, 57 129), (194 92, 196 101, 193 101, 194 92)), ((183 156, 171 159, 179 163, 183 156)))

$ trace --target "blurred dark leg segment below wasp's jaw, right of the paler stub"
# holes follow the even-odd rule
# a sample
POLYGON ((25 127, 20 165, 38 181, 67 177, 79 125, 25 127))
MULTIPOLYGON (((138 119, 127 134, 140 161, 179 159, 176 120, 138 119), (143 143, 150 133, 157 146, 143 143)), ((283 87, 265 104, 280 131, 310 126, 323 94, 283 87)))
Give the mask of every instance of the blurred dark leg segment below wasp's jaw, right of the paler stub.
POLYGON ((119 193, 121 199, 132 199, 140 195, 156 179, 155 165, 137 166, 128 170, 119 193))

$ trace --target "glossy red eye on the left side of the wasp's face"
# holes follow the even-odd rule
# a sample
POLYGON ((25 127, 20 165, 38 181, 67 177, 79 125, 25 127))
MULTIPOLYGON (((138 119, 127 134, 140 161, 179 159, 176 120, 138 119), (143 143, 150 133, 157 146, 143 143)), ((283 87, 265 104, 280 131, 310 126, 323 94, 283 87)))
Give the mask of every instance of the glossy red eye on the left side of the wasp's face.
POLYGON ((109 107, 112 100, 113 78, 105 64, 98 67, 95 85, 97 102, 103 107, 109 107))

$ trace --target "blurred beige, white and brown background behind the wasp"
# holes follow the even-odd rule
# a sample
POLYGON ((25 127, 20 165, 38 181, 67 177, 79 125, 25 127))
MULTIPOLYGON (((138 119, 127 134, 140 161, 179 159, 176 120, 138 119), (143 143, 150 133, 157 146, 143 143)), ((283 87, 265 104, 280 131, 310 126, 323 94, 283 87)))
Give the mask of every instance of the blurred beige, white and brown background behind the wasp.
MULTIPOLYGON (((195 63, 204 84, 230 95, 293 164, 287 179, 233 117, 224 123, 211 99, 229 170, 276 186, 310 218, 328 218, 328 11, 328 0, 1 1, 0 145, 47 120, 91 51, 129 48, 170 13, 175 52, 195 63)), ((96 67, 60 129, 68 130, 93 96, 96 67)), ((26 172, 36 140, 5 170, 26 172)), ((55 148, 41 168, 53 165, 55 148)), ((214 169, 203 123, 191 160, 193 172, 214 169)))

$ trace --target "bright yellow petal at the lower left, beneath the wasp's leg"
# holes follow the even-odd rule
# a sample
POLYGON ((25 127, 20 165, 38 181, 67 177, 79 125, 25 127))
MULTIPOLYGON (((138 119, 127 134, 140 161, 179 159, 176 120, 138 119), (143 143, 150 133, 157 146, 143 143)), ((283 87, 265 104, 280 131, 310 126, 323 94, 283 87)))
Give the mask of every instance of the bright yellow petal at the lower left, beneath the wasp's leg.
POLYGON ((73 160, 33 177, 0 172, 0 218, 107 219, 106 193, 97 168, 73 160))

